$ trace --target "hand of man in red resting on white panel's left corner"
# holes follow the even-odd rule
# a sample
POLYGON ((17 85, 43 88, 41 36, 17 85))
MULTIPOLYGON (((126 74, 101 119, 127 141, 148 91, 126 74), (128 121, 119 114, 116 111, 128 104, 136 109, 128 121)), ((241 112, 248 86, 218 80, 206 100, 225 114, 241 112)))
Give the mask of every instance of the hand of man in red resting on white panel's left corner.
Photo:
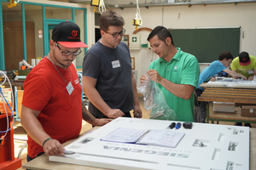
POLYGON ((44 152, 47 156, 64 156, 64 147, 56 139, 49 139, 44 143, 44 152))

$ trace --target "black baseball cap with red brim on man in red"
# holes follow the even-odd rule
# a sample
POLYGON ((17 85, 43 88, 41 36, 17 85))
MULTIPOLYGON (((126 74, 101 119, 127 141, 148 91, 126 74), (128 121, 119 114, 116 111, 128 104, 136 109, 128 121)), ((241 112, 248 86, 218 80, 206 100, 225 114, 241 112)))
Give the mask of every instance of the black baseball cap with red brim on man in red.
POLYGON ((88 48, 80 40, 80 28, 73 22, 61 22, 54 27, 51 39, 66 48, 88 48))

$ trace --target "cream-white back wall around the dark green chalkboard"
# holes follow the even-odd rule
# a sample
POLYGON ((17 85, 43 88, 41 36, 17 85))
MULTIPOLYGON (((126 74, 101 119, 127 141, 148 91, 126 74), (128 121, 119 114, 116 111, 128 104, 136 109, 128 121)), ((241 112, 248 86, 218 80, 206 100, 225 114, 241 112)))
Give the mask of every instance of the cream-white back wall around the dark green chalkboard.
MULTIPOLYGON (((135 18, 136 8, 113 8, 119 12, 125 19, 126 33, 132 35, 135 26, 132 26, 132 19, 135 18)), ((195 28, 195 27, 230 27, 241 26, 241 32, 244 31, 244 37, 241 37, 240 51, 247 51, 249 54, 256 55, 256 3, 222 3, 166 7, 140 8, 143 19, 143 26, 154 29, 155 26, 166 26, 167 28, 195 28), (178 17, 179 16, 179 17, 178 17)), ((140 31, 142 43, 147 43, 148 31, 140 31)), ((174 40, 175 42, 175 40, 174 40)), ((137 77, 141 77, 143 72, 140 67, 146 61, 142 50, 131 50, 131 57, 135 57, 135 67, 137 77)), ((188 52, 189 53, 189 52, 188 52)), ((221 52, 220 52, 221 53, 221 52)), ((235 56, 234 56, 235 57, 235 56)), ((148 54, 150 61, 151 55, 148 54)), ((218 56, 216 56, 218 59, 218 56)), ((147 62, 146 62, 147 63, 147 62)), ((202 69, 205 65, 202 65, 202 69)), ((139 81, 137 81, 139 82, 139 81)))

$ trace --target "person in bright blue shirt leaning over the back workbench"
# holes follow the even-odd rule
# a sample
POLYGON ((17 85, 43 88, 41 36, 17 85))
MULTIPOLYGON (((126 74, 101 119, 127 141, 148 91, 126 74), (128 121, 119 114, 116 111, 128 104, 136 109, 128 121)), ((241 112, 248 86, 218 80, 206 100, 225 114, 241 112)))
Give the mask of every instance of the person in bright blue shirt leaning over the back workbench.
MULTIPOLYGON (((225 72, 229 75, 231 75, 232 77, 241 77, 243 79, 247 79, 247 77, 244 77, 243 75, 234 72, 234 71, 230 71, 230 69, 227 69, 227 67, 230 65, 230 62, 233 59, 233 55, 230 54, 230 52, 223 52, 221 54, 219 54, 218 56, 218 60, 213 61, 209 66, 207 66, 206 69, 204 69, 203 71, 201 71, 199 80, 198 80, 198 84, 197 84, 197 88, 195 90, 195 93, 197 95, 197 97, 200 97, 202 92, 204 91, 204 88, 201 88, 200 85, 203 82, 206 82, 207 79, 210 80, 212 78, 211 81, 215 81, 215 77, 222 72, 225 72)), ((206 122, 206 117, 207 117, 207 102, 206 101, 198 101, 197 103, 195 103, 196 107, 200 107, 199 111, 200 111, 200 116, 201 116, 201 122, 206 122)), ((195 114, 197 115, 197 114, 195 114)))

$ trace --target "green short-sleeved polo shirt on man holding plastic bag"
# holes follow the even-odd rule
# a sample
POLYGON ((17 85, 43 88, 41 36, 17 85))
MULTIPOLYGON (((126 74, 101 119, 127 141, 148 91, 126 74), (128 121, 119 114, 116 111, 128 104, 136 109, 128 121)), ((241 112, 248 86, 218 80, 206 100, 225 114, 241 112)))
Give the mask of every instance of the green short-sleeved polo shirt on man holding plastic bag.
MULTIPOLYGON (((196 88, 200 74, 200 66, 192 54, 184 53, 177 48, 177 54, 167 62, 165 59, 155 59, 148 69, 156 70, 161 77, 177 84, 189 84, 196 88)), ((178 120, 194 122, 194 95, 190 99, 178 98, 166 88, 157 83, 166 98, 166 104, 175 111, 178 120)))

